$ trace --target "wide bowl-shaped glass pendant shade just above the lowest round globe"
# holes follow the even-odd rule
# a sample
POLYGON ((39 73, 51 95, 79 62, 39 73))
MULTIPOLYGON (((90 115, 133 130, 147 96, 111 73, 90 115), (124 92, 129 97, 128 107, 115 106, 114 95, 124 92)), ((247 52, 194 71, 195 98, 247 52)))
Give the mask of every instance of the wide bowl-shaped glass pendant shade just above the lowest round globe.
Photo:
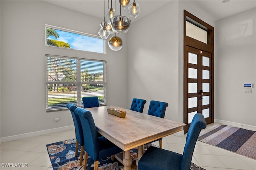
POLYGON ((128 32, 130 22, 130 18, 126 16, 114 16, 110 18, 112 30, 119 34, 128 32))

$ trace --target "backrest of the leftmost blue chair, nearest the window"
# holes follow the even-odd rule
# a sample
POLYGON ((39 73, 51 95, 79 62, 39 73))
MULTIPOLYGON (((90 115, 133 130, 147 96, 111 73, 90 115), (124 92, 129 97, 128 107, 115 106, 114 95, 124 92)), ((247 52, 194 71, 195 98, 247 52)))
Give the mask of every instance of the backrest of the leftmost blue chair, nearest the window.
POLYGON ((72 118, 73 118, 76 139, 78 140, 80 145, 83 146, 84 145, 84 136, 83 136, 82 125, 81 125, 79 116, 75 115, 75 112, 74 112, 76 109, 76 106, 73 105, 72 103, 69 103, 68 105, 66 105, 66 107, 70 110, 72 118))

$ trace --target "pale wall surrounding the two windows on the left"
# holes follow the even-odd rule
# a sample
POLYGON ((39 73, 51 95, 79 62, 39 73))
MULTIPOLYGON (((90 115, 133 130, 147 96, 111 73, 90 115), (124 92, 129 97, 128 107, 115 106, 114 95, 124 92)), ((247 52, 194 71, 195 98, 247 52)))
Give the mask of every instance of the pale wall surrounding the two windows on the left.
POLYGON ((46 113, 45 54, 107 61, 107 104, 126 107, 124 47, 107 55, 45 46, 45 24, 98 35, 99 18, 42 1, 1 0, 1 138, 73 125, 70 111, 46 113), (54 118, 60 121, 54 122, 54 118))

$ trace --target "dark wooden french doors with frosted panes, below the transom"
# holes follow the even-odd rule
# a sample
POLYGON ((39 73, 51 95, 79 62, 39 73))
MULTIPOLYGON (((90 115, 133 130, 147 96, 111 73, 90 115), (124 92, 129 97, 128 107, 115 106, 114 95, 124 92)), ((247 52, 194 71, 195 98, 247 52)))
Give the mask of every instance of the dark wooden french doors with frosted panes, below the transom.
POLYGON ((196 113, 202 113, 207 124, 213 118, 212 54, 186 46, 185 109, 186 124, 196 113))

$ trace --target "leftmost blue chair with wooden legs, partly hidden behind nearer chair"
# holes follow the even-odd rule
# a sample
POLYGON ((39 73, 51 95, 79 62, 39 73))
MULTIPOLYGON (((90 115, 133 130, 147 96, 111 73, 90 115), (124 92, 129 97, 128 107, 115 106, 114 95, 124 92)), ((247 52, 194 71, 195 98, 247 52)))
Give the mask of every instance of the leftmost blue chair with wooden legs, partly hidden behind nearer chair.
POLYGON ((83 136, 83 130, 82 130, 82 125, 80 121, 80 117, 78 115, 75 115, 74 111, 76 109, 76 106, 69 103, 66 106, 72 115, 73 121, 74 121, 74 126, 75 126, 75 133, 76 133, 76 152, 75 156, 78 155, 78 145, 80 144, 81 146, 81 154, 80 154, 80 166, 82 166, 83 162, 83 156, 84 156, 84 136, 83 136))

